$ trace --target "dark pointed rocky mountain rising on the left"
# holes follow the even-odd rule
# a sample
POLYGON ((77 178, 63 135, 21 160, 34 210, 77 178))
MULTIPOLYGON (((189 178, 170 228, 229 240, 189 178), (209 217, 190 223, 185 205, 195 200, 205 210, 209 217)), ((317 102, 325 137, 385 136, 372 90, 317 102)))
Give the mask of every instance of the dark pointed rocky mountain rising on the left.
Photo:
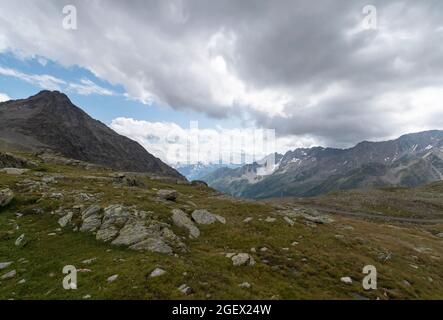
POLYGON ((184 180, 140 144, 92 119, 57 91, 0 103, 0 140, 9 149, 49 150, 115 170, 184 180))

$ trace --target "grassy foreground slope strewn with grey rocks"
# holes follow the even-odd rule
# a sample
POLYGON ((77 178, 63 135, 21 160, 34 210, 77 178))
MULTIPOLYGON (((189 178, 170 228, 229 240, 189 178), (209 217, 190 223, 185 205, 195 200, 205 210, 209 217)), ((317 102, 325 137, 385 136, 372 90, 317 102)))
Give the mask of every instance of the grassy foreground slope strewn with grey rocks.
POLYGON ((0 168, 0 299, 443 297, 441 182, 263 203, 75 161, 7 158, 21 168, 0 168), (366 210, 380 194, 377 220, 316 209, 366 210), (391 214, 419 220, 380 220, 391 214), (362 286, 366 265, 376 289, 362 286), (65 266, 77 270, 76 290, 63 287, 65 266))

